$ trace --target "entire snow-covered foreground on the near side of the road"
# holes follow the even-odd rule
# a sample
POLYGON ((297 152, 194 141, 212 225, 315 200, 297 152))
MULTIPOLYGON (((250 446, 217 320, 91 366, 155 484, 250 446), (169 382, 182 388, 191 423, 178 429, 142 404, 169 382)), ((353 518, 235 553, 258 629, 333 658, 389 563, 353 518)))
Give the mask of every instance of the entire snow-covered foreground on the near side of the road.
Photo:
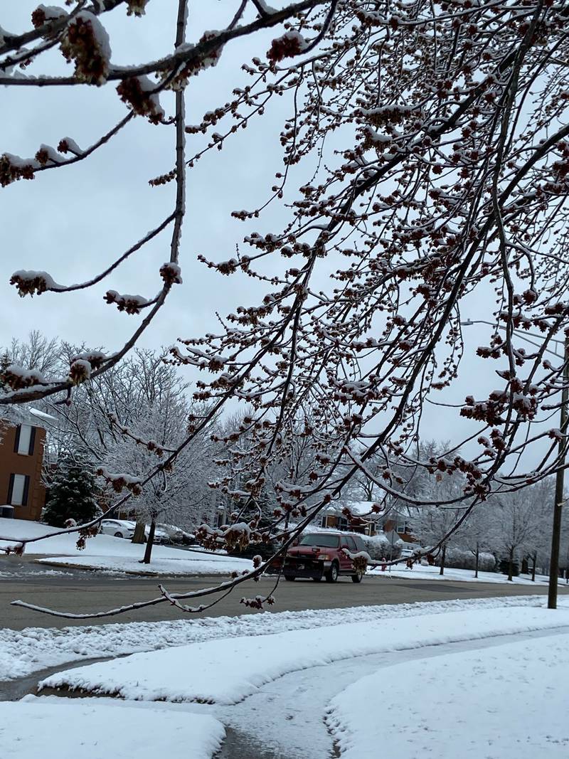
POLYGON ((0 664, 4 647, 14 669, 38 669, 54 654, 168 647, 44 680, 102 698, 69 700, 59 691, 0 704, 0 726, 9 726, 0 756, 126 759, 127 746, 129 759, 210 759, 225 726, 231 757, 304 759, 308 750, 324 759, 336 755, 335 739, 341 759, 565 759, 569 601, 562 597, 556 612, 543 601, 0 631, 0 664), (545 703, 552 710, 543 719, 545 703))

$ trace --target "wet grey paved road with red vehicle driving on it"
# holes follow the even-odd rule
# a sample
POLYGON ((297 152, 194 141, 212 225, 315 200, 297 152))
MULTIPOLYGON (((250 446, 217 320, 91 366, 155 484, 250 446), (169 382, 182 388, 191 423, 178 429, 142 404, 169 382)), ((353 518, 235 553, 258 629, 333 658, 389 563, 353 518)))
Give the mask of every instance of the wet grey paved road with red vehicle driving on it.
MULTIPOLYGON (((188 591, 217 584, 219 577, 171 578, 161 581, 171 591, 188 591)), ((65 625, 102 625, 109 622, 156 622, 161 619, 180 619, 181 613, 160 603, 139 611, 119 616, 73 622, 68 619, 46 616, 29 609, 10 606, 14 599, 26 600, 38 606, 50 606, 61 611, 84 613, 102 611, 134 601, 157 597, 156 578, 117 578, 93 572, 66 572, 45 575, 38 573, 38 565, 31 557, 0 560, 0 627, 20 630, 24 627, 64 627, 65 625)), ((256 613, 240 603, 243 596, 267 594, 272 581, 250 581, 236 589, 231 596, 209 609, 207 616, 234 616, 256 613)), ((560 593, 565 593, 560 588, 560 593)), ((412 603, 414 601, 450 600, 455 598, 489 598, 508 595, 545 594, 545 587, 529 585, 466 583, 455 581, 426 581, 367 577, 356 585, 350 578, 341 578, 336 584, 314 583, 310 580, 281 582, 276 603, 269 611, 297 611, 301 609, 332 609, 347 606, 369 606, 378 603, 412 603)))

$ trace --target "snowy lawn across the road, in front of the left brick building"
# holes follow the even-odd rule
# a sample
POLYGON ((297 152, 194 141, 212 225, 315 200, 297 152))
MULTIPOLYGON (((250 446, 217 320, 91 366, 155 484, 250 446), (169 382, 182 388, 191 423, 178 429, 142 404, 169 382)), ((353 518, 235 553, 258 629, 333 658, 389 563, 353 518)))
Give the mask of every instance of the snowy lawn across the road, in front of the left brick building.
MULTIPOLYGON (((40 537, 56 528, 47 524, 26 521, 24 519, 0 518, 0 535, 8 540, 0 540, 3 546, 13 545, 14 541, 24 537, 40 537)), ((244 572, 253 568, 249 559, 233 556, 221 556, 214 553, 204 554, 196 551, 181 550, 168 546, 152 548, 150 565, 140 565, 143 558, 143 545, 134 545, 130 540, 112 535, 90 537, 85 549, 77 549, 77 533, 68 533, 38 540, 26 547, 32 555, 50 556, 45 561, 50 565, 64 565, 78 568, 100 568, 119 572, 156 572, 166 575, 226 575, 229 572, 244 572), (66 558, 71 557, 71 558, 66 558), (178 563, 181 562, 181 563, 178 563)), ((44 561, 40 559, 40 562, 44 561)))

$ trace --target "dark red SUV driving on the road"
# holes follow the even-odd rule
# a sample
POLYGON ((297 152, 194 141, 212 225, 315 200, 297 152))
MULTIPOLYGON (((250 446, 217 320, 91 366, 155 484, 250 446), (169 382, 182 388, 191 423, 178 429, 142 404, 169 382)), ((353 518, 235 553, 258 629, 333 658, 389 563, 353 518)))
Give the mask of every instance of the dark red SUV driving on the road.
POLYGON ((365 550, 358 535, 344 532, 317 532, 303 535, 297 545, 287 551, 285 563, 282 557, 273 559, 267 572, 278 575, 282 570, 285 580, 297 577, 311 578, 326 582, 335 582, 340 575, 350 575, 353 582, 361 582, 364 571, 354 571, 352 559, 344 553, 344 548, 351 553, 365 550))

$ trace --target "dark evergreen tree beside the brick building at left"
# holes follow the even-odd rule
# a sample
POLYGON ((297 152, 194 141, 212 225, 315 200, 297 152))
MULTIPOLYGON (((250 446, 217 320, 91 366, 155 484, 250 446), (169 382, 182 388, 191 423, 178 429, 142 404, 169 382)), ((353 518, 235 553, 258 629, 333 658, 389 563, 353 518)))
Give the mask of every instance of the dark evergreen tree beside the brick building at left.
POLYGON ((99 511, 97 492, 90 462, 77 455, 65 455, 53 476, 43 521, 52 527, 64 527, 68 519, 77 524, 90 521, 99 511))

